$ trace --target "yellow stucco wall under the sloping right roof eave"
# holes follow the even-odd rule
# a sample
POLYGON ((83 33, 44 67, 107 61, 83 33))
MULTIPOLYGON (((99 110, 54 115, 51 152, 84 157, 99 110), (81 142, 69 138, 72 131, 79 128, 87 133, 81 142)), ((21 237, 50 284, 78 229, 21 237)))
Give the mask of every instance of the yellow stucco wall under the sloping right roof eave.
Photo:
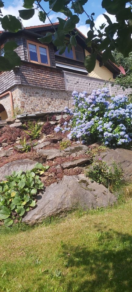
MULTIPOLYGON (((90 55, 88 51, 85 50, 85 55, 90 55)), ((99 67, 99 61, 96 60, 96 65, 94 71, 91 73, 88 73, 89 77, 94 77, 94 78, 99 78, 99 79, 104 79, 106 81, 115 81, 113 79, 113 74, 110 72, 105 66, 99 67)))

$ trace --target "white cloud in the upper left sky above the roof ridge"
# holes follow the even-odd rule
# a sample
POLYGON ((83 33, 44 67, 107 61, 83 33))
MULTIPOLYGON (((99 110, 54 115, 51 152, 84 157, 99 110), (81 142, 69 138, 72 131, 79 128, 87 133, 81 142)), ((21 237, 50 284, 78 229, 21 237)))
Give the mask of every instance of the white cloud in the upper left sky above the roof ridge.
MULTIPOLYGON (((18 17, 19 16, 19 12, 18 10, 21 10, 21 9, 24 9, 22 7, 22 4, 23 4, 23 1, 20 0, 15 0, 12 5, 8 6, 7 8, 3 7, 2 8, 2 14, 3 16, 7 15, 7 14, 11 14, 13 16, 16 16, 18 17)), ((26 26, 34 26, 34 25, 41 25, 41 24, 44 24, 42 23, 39 18, 38 18, 38 11, 35 10, 35 14, 32 18, 28 19, 28 20, 24 20, 22 19, 22 22, 23 22, 23 26, 26 27, 26 26)), ((60 14, 61 15, 61 14, 60 14)), ((56 14, 56 13, 52 13, 49 14, 49 18, 52 22, 58 22, 58 19, 56 19, 56 17, 61 17, 59 14, 56 14)), ((45 21, 45 24, 49 23, 49 20, 48 18, 46 19, 45 21)), ((0 30, 2 30, 2 26, 0 25, 0 30)))

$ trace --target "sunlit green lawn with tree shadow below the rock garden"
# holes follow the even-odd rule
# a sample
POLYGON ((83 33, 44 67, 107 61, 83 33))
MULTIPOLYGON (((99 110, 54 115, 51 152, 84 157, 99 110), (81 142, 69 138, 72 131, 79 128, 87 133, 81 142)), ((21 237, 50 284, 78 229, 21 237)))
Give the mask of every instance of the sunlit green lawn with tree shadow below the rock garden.
POLYGON ((132 200, 80 215, 1 228, 0 292, 132 292, 132 200))

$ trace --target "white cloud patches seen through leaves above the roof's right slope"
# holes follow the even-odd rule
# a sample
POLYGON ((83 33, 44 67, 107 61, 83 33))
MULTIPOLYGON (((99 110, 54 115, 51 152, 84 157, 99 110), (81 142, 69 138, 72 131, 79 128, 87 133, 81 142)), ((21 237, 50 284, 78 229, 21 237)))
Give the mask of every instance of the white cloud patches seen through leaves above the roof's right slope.
MULTIPOLYGON (((116 22, 116 17, 114 15, 110 15, 109 13, 105 12, 107 16, 111 19, 112 23, 116 22)), ((97 30, 99 30, 99 26, 102 25, 102 23, 106 23, 106 26, 108 25, 105 17, 103 14, 98 15, 98 17, 95 19, 95 27, 97 30)), ((87 36, 87 32, 90 30, 90 26, 85 25, 77 25, 77 29, 81 31, 85 36, 87 36)))

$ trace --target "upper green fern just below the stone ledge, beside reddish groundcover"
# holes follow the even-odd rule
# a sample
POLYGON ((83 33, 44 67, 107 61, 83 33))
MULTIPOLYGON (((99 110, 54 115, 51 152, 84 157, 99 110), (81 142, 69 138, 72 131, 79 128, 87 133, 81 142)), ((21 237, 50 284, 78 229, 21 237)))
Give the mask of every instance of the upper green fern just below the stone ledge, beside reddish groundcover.
POLYGON ((39 124, 39 121, 37 122, 28 121, 27 127, 28 127, 27 131, 24 130, 24 132, 27 133, 32 140, 37 139, 42 129, 42 125, 39 124))

